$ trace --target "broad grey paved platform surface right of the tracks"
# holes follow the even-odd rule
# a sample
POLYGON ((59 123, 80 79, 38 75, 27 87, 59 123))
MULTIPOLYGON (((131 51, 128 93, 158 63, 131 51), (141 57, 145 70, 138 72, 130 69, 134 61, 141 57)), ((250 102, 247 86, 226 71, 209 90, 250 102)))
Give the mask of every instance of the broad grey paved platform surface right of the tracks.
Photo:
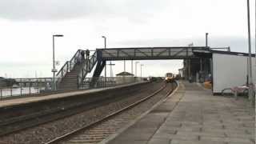
POLYGON ((213 96, 180 82, 170 98, 108 144, 253 144, 254 109, 245 98, 213 96))

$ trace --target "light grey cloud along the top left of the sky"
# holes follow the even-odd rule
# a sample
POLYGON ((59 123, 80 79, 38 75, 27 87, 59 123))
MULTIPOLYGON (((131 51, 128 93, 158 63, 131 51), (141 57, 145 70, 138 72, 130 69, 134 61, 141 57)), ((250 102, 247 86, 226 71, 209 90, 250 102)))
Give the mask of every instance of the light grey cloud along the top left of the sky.
POLYGON ((62 20, 68 18, 147 18, 168 0, 1 0, 0 18, 62 20))

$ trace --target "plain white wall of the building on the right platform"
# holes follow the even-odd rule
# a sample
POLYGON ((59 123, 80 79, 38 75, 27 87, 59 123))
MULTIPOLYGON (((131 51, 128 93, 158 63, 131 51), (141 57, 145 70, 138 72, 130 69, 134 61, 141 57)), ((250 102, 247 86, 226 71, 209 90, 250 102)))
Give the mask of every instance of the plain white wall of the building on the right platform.
MULTIPOLYGON (((252 58, 253 78, 255 78, 255 58, 252 58)), ((213 54, 214 93, 223 89, 246 84, 247 57, 230 54, 213 54)))

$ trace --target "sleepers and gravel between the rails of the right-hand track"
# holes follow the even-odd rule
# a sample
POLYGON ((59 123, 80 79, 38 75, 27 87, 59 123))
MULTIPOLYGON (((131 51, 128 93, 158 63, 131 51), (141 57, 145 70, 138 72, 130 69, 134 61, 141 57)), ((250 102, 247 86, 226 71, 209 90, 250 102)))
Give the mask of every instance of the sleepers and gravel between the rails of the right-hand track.
POLYGON ((141 114, 149 110, 155 103, 159 102, 163 98, 166 98, 166 94, 170 92, 173 84, 167 84, 164 90, 161 90, 158 94, 155 94, 153 97, 147 99, 145 102, 134 106, 130 110, 122 112, 122 114, 115 115, 113 118, 110 118, 104 122, 99 123, 97 126, 92 126, 87 130, 75 134, 71 138, 58 142, 62 144, 68 143, 98 143, 103 139, 109 137, 111 134, 114 134, 122 126, 126 126, 129 122, 138 118, 141 114))

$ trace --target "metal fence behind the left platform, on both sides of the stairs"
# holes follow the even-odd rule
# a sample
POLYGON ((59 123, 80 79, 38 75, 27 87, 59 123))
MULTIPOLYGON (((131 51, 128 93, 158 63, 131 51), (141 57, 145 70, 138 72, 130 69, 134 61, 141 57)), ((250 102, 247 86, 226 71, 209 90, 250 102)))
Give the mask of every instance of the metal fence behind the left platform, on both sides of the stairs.
MULTIPOLYGON (((85 78, 79 90, 95 89, 102 87, 118 86, 134 82, 140 82, 143 78, 130 77, 127 81, 126 78, 96 78, 94 85, 91 82, 94 78, 85 78)), ((0 100, 3 98, 30 96, 42 93, 51 93, 52 91, 52 78, 14 78, 14 83, 11 86, 0 87, 0 100)), ((62 91, 57 91, 62 92, 62 91)))

